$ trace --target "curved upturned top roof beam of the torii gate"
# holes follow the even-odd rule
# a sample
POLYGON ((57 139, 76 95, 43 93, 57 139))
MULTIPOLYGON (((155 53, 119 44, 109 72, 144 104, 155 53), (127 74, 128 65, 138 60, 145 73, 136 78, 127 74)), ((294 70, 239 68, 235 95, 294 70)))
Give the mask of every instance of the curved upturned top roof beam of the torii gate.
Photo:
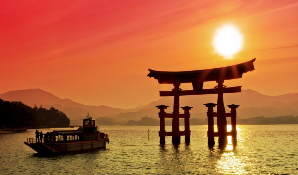
POLYGON ((240 64, 226 66, 221 68, 212 68, 195 71, 155 71, 149 70, 150 78, 157 79, 160 84, 179 84, 191 82, 207 82, 241 78, 243 73, 254 70, 252 59, 240 64))

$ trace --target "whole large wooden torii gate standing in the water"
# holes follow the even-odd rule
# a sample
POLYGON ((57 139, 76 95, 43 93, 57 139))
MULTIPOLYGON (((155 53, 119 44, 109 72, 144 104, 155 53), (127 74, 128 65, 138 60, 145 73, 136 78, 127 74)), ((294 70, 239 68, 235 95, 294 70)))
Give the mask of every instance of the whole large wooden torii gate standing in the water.
MULTIPOLYGON (((212 103, 205 104, 206 107, 208 107, 208 112, 209 112, 209 113, 207 112, 208 128, 211 129, 211 124, 212 124, 212 130, 213 130, 213 116, 217 116, 217 128, 218 128, 218 132, 216 134, 214 133, 214 131, 213 133, 211 133, 212 130, 210 131, 208 130, 209 132, 208 144, 209 145, 215 144, 214 136, 218 136, 219 144, 227 143, 228 133, 227 133, 226 111, 224 108, 223 94, 241 92, 242 86, 226 87, 225 85, 223 85, 224 80, 242 78, 243 73, 246 73, 247 71, 253 71, 254 70, 253 62, 255 60, 256 59, 254 58, 248 62, 243 62, 237 65, 221 67, 221 68, 205 69, 205 70, 196 70, 196 71, 170 72, 170 71, 154 71, 154 70, 148 69, 150 73, 147 76, 154 77, 154 79, 158 80, 158 83, 174 85, 174 89, 172 89, 172 91, 159 91, 159 96, 174 96, 174 106, 173 106, 172 114, 168 114, 164 112, 164 109, 166 109, 168 106, 164 106, 164 105, 156 106, 160 109, 160 112, 159 112, 160 124, 161 124, 160 131, 159 131, 160 144, 165 143, 165 136, 172 136, 172 143, 180 143, 180 136, 185 135, 185 141, 190 142, 189 110, 192 107, 182 107, 184 110, 184 114, 179 114, 179 96, 203 95, 203 94, 218 95, 217 112, 213 112, 213 107, 215 107, 216 104, 212 104, 212 103), (214 89, 203 89, 204 82, 208 82, 208 81, 216 81, 218 85, 215 86, 214 89), (179 86, 181 83, 192 83, 193 90, 180 89, 179 86), (212 113, 210 113, 211 109, 212 109, 212 113), (209 118, 211 117, 212 117, 212 120, 209 120, 209 118), (172 132, 164 131, 164 118, 173 118, 172 132), (179 118, 185 119, 184 132, 179 131, 179 118), (187 124, 187 121, 188 121, 188 124, 187 124), (212 141, 212 138, 213 138, 213 141, 212 141)), ((232 113, 231 115, 236 117, 236 110, 234 109, 237 108, 238 105, 235 105, 235 106, 229 105, 229 107, 232 108, 232 111, 234 111, 235 113, 235 114, 232 113)), ((235 119, 235 122, 236 122, 236 119, 235 119)), ((236 126, 236 123, 235 123, 235 126, 236 126)), ((236 128, 234 132, 236 133, 236 128)))

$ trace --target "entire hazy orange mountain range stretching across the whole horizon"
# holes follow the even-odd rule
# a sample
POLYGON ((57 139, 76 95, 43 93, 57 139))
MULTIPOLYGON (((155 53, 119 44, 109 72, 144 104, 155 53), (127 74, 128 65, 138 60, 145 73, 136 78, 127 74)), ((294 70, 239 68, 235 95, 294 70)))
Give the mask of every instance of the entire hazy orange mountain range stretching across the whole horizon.
MULTIPOLYGON (((75 120, 84 118, 87 113, 93 118, 109 121, 128 121, 140 120, 141 117, 158 118, 158 109, 155 107, 160 104, 169 106, 166 112, 173 111, 173 97, 163 97, 158 101, 153 101, 148 105, 139 105, 133 109, 112 108, 108 106, 84 105, 70 99, 60 99, 52 93, 41 89, 14 90, 0 94, 0 98, 6 101, 22 101, 28 106, 34 107, 54 107, 66 113, 70 118, 71 124, 75 120), (104 118, 103 118, 104 117, 104 118)), ((180 106, 191 106, 192 118, 206 118, 207 108, 204 103, 216 103, 217 95, 200 95, 200 96, 181 96, 180 106)), ((250 117, 276 117, 282 115, 298 115, 298 93, 288 93, 280 96, 267 96, 254 90, 242 90, 241 93, 224 94, 225 105, 238 104, 237 110, 239 118, 250 117)), ((103 102, 104 104, 104 102, 103 102)), ((215 109, 216 111, 216 109, 215 109)), ((226 107, 226 112, 229 112, 226 107)), ((182 112, 182 110, 180 111, 182 112)))

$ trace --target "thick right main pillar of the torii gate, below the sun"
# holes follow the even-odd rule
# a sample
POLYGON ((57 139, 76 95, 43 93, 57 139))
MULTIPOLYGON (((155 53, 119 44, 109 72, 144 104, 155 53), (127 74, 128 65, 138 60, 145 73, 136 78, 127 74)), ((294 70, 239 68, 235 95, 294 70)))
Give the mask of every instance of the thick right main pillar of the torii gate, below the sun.
POLYGON ((222 81, 217 81, 217 130, 218 130, 218 144, 227 144, 227 123, 226 123, 226 110, 224 108, 224 85, 222 81))

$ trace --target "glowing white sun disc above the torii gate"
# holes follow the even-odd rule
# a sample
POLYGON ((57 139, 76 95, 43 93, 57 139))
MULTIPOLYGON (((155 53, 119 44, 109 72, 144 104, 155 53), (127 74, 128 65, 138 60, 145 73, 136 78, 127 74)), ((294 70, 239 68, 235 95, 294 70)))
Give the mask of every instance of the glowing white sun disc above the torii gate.
POLYGON ((226 24, 216 30, 212 45, 216 53, 232 59, 233 55, 242 49, 243 35, 236 26, 226 24))

